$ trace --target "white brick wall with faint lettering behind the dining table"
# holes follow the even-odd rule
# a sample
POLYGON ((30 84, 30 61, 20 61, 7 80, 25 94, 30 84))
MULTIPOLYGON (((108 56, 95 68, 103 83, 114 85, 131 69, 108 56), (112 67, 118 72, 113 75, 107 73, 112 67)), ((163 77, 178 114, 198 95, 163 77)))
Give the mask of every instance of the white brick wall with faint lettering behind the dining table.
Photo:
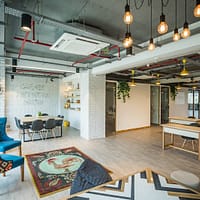
POLYGON ((58 107, 59 81, 49 78, 15 76, 11 80, 6 75, 6 116, 7 125, 16 129, 14 117, 24 114, 36 116, 38 112, 48 113, 50 116, 60 114, 58 107))

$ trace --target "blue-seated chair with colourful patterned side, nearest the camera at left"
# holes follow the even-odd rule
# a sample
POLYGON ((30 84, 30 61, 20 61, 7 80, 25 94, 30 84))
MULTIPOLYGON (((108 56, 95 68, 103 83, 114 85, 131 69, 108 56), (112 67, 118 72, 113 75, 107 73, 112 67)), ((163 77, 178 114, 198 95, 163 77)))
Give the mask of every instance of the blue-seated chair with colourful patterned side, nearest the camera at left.
POLYGON ((24 157, 10 154, 0 154, 0 173, 3 175, 16 167, 21 167, 21 181, 24 181, 24 157))

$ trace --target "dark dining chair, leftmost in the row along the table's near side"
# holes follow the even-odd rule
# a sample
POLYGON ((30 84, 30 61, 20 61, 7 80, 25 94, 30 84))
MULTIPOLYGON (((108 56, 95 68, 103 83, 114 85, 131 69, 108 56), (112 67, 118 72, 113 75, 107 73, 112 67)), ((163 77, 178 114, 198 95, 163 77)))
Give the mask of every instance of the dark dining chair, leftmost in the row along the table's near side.
POLYGON ((44 132, 43 121, 41 119, 34 120, 32 122, 32 126, 30 129, 31 140, 33 141, 35 134, 38 134, 40 138, 43 139, 43 132, 44 132))

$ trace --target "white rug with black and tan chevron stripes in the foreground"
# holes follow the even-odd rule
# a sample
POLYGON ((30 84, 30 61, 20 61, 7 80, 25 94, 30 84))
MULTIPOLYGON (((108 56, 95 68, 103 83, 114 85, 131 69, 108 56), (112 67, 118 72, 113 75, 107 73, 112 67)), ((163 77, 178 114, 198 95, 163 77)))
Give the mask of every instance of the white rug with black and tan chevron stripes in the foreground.
POLYGON ((200 193, 175 183, 150 169, 91 189, 69 200, 194 200, 200 193))

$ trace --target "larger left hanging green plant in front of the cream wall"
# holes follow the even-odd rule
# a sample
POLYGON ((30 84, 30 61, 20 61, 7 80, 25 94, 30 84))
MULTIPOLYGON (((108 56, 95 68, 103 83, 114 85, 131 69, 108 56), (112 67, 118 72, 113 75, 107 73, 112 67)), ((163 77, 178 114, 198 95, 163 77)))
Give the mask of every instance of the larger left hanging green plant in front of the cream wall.
POLYGON ((119 81, 117 86, 117 98, 123 99, 123 102, 126 102, 126 98, 130 97, 129 95, 130 87, 126 81, 119 81))

